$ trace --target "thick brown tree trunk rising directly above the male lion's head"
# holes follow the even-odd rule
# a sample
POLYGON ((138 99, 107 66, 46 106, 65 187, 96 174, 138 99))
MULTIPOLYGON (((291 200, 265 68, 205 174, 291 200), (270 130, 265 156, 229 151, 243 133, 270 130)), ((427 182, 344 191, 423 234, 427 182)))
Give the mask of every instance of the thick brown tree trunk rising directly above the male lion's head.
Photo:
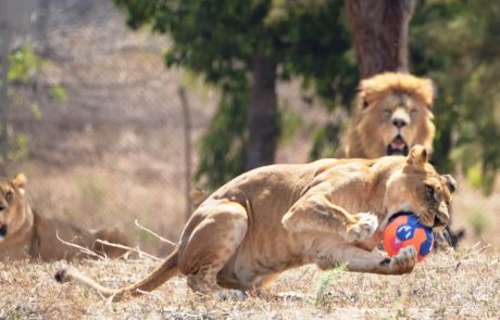
POLYGON ((408 27, 416 0, 345 0, 361 78, 409 72, 408 27))

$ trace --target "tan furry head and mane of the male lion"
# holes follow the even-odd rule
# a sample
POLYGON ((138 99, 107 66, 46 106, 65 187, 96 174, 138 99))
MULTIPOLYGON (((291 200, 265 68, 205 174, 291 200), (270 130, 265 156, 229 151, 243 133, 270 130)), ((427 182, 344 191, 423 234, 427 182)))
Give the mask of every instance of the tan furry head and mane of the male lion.
POLYGON ((433 100, 434 88, 429 79, 385 73, 362 80, 350 129, 336 157, 377 158, 389 155, 387 146, 398 135, 407 143, 407 151, 421 144, 430 153, 435 133, 433 100), (403 120, 405 125, 398 128, 396 119, 403 120))

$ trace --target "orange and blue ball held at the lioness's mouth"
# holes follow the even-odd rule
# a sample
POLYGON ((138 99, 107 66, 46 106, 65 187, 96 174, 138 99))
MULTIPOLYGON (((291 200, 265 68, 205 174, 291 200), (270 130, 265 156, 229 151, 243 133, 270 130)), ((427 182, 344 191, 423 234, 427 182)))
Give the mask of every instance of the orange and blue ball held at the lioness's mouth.
POLYGON ((396 256, 403 247, 413 246, 417 261, 423 261, 433 251, 434 235, 429 227, 422 225, 411 213, 396 215, 384 230, 384 247, 389 256, 396 256))

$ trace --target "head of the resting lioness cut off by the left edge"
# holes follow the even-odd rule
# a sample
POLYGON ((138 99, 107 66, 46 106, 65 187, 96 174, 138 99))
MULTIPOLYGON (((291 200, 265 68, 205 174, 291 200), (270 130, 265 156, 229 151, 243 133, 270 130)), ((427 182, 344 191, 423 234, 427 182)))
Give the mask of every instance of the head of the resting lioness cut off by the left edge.
POLYGON ((0 242, 15 233, 25 219, 24 185, 26 177, 18 174, 14 179, 0 181, 0 242))

